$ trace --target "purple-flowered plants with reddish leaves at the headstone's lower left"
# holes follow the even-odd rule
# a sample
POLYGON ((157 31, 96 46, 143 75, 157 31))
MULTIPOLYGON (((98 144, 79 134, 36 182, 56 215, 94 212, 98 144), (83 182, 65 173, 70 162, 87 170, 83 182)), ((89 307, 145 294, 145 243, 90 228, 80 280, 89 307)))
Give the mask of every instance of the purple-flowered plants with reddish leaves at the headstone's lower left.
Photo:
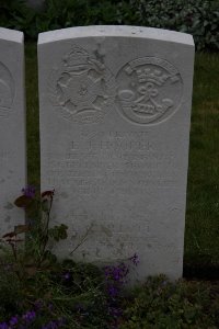
POLYGON ((117 326, 123 288, 130 264, 138 264, 137 254, 104 269, 71 259, 58 261, 48 246, 66 239, 68 227, 50 227, 54 191, 39 196, 27 186, 22 192, 14 203, 34 220, 15 226, 1 239, 0 328, 117 326))

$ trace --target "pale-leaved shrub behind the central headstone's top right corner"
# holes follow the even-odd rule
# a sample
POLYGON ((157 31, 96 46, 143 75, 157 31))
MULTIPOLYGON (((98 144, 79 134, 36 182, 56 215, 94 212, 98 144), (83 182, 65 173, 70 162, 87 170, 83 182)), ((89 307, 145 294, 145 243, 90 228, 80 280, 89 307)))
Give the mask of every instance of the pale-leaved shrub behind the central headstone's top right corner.
POLYGON ((198 50, 219 49, 218 0, 132 0, 131 3, 140 25, 189 33, 198 50))

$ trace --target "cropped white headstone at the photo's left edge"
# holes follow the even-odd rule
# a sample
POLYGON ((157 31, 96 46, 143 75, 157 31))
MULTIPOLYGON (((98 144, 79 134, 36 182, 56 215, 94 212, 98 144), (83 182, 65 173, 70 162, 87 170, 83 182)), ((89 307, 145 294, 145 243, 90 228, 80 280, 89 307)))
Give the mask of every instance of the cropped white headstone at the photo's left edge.
POLYGON ((26 184, 23 33, 0 27, 0 235, 24 224, 13 202, 26 184))

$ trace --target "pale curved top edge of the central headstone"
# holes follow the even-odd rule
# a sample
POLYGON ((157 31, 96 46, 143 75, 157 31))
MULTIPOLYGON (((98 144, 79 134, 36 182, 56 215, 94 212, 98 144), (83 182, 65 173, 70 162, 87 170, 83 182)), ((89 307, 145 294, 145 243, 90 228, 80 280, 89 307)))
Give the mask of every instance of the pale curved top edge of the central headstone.
POLYGON ((38 35, 38 44, 53 43, 72 37, 91 36, 145 37, 194 46, 193 36, 191 34, 162 29, 127 25, 78 26, 44 32, 38 35))

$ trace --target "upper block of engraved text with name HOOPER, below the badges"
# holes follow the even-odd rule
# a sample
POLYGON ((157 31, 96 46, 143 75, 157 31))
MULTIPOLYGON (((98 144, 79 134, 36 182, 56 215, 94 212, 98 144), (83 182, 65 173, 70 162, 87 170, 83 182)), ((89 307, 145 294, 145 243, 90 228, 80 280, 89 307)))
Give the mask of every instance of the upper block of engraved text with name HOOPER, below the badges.
POLYGON ((177 162, 165 149, 155 149, 148 134, 125 132, 82 133, 68 144, 66 154, 48 154, 48 184, 67 185, 78 196, 140 194, 177 185, 177 162), (119 136, 119 137, 118 137, 119 136), (165 169, 164 169, 165 168, 165 169))

